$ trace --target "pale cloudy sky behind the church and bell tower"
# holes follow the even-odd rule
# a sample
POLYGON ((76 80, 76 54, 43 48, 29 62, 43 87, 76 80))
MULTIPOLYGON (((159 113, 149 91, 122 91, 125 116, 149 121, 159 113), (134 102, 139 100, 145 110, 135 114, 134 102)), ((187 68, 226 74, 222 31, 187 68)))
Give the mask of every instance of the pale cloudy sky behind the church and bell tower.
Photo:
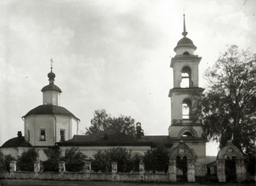
MULTIPOLYGON (((204 71, 227 44, 256 51, 254 0, 2 0, 0 3, 0 145, 24 131, 21 119, 42 105, 53 58, 60 106, 86 132, 97 109, 131 116, 146 135, 170 126, 170 59, 187 37, 204 71)), ((24 132, 23 132, 24 133, 24 132)), ((208 145, 207 155, 216 155, 208 145)))

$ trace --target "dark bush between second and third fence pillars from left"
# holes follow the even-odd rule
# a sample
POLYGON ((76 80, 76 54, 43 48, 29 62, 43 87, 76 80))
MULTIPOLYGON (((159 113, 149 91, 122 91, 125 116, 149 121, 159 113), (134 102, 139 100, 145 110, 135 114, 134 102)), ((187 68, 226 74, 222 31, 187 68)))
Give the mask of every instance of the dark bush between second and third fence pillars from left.
POLYGON ((60 158, 60 150, 58 146, 49 147, 43 150, 47 156, 47 161, 43 161, 43 171, 45 172, 58 172, 58 161, 60 158))

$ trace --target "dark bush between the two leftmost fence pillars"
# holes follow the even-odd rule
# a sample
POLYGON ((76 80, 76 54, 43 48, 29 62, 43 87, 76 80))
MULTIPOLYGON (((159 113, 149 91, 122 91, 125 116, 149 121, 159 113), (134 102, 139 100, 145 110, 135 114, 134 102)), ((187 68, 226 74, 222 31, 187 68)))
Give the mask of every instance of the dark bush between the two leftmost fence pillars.
POLYGON ((37 161, 38 157, 38 152, 32 147, 18 156, 17 167, 20 171, 34 171, 34 162, 37 161))

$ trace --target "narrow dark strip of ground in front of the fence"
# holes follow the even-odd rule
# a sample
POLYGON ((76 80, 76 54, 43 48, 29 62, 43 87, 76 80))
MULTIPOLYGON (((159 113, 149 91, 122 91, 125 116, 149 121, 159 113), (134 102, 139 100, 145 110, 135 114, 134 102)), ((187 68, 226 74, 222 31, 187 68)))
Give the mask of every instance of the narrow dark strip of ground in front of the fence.
POLYGON ((83 182, 83 181, 49 181, 49 180, 19 180, 19 179, 3 179, 0 180, 0 186, 6 186, 6 185, 17 185, 17 186, 52 186, 52 185, 61 185, 61 186, 79 186, 79 185, 86 185, 86 186, 115 186, 115 185, 121 185, 121 186, 134 186, 134 185, 140 185, 140 186, 196 186, 196 185, 207 185, 207 186, 215 186, 215 185, 223 185, 223 186, 255 186, 255 183, 121 183, 121 182, 83 182))

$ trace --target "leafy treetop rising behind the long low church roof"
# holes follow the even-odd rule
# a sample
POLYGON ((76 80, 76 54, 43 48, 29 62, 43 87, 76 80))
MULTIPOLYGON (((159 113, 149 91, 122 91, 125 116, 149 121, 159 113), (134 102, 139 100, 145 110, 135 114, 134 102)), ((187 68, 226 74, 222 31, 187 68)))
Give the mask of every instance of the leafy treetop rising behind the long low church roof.
POLYGON ((91 126, 86 128, 86 134, 94 134, 106 129, 116 129, 125 134, 135 135, 135 120, 131 117, 120 115, 120 117, 111 117, 109 113, 103 110, 96 110, 91 119, 91 126))

